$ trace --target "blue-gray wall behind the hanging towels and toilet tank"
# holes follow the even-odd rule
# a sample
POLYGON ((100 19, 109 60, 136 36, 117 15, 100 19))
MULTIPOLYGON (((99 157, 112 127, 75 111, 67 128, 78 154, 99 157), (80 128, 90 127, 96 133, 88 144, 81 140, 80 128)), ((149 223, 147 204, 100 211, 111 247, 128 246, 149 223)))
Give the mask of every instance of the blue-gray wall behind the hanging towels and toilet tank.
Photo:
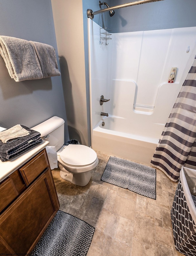
MULTIPOLYGON (((52 45, 58 60, 50 0, 2 0, 0 14, 0 35, 52 45)), ((0 126, 33 127, 56 115, 65 120, 68 140, 61 76, 15 82, 1 56, 0 70, 0 126)))

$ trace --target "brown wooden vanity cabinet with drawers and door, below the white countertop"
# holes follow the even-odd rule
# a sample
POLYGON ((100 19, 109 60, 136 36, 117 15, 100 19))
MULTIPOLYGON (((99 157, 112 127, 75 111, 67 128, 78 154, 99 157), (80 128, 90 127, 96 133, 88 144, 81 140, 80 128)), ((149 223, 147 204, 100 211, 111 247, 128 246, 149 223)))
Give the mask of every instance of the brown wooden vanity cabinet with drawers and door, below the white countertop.
POLYGON ((0 254, 29 254, 58 209, 43 149, 0 184, 0 254))

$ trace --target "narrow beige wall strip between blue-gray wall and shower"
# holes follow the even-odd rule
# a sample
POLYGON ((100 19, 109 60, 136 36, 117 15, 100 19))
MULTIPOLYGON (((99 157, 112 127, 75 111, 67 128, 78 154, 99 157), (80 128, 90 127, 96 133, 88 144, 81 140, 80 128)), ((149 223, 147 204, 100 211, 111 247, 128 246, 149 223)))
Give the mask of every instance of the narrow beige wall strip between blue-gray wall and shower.
POLYGON ((51 0, 70 139, 90 145, 82 1, 51 0))

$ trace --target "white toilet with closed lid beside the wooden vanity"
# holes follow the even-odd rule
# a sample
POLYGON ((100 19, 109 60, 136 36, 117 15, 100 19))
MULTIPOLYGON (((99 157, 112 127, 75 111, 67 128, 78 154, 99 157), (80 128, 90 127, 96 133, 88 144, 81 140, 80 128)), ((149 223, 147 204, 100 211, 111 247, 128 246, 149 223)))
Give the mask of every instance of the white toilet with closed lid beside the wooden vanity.
POLYGON ((57 151, 60 177, 78 186, 85 186, 91 179, 91 170, 98 164, 96 152, 85 145, 64 145, 64 123, 57 116, 32 127, 40 132, 43 140, 49 141, 49 146, 55 146, 57 151))

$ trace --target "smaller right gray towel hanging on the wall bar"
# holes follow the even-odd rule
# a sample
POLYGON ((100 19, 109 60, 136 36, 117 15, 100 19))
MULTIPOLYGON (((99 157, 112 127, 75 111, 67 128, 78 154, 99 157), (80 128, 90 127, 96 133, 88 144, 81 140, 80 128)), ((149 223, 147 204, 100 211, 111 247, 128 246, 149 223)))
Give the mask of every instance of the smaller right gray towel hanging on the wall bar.
POLYGON ((50 76, 60 76, 55 49, 51 45, 30 41, 36 50, 40 62, 43 78, 50 76))

